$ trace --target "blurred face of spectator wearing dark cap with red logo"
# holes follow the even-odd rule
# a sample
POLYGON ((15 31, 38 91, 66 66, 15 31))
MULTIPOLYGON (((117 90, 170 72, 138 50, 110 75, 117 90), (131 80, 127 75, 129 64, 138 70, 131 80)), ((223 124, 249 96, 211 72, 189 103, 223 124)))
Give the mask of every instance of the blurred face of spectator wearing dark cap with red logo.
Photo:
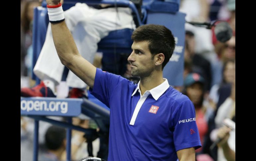
POLYGON ((201 103, 202 95, 203 87, 200 83, 193 83, 191 86, 187 87, 187 96, 194 105, 199 105, 201 103))

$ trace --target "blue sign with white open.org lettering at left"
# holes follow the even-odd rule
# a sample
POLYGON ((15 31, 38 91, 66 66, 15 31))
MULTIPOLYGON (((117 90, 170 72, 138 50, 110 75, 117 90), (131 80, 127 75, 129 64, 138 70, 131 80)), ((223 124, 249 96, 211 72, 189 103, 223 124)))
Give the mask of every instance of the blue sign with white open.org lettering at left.
POLYGON ((78 116, 82 99, 21 97, 21 115, 78 116))

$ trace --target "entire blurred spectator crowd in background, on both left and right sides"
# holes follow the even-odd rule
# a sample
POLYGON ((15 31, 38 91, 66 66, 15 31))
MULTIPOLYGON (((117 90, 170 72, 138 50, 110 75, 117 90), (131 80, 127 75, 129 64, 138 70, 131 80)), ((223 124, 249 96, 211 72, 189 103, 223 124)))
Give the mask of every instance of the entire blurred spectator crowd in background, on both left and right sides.
MULTIPOLYGON (((220 42, 215 37, 214 28, 209 30, 186 23, 184 85, 174 88, 187 95, 194 104, 202 143, 202 147, 196 150, 196 160, 235 160, 235 131, 223 126, 226 118, 235 122, 235 0, 180 2, 180 12, 187 14, 186 21, 224 20, 233 30, 230 40, 220 42), (223 139, 211 149, 217 138, 223 139)), ((41 6, 41 3, 39 0, 21 0, 21 88, 35 85, 31 79, 33 8, 41 6)), ((97 67, 101 66, 101 56, 95 56, 97 67)), ((126 71, 119 74, 131 76, 129 66, 125 64, 125 67, 126 71)), ((87 117, 73 118, 73 124, 99 130, 95 122, 87 117)), ((33 119, 21 117, 21 161, 32 161, 33 125, 33 119)), ((42 161, 65 160, 65 129, 40 121, 40 131, 39 158, 42 161)), ((83 132, 72 130, 71 143, 72 160, 89 155, 83 132)), ((94 139, 92 144, 93 156, 107 160, 107 153, 99 150, 99 138, 94 139)))

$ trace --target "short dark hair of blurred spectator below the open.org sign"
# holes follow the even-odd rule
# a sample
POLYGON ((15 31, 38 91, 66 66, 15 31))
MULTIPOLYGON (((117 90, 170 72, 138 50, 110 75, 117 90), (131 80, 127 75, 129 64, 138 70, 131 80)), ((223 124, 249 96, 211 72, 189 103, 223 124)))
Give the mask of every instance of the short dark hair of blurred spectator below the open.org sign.
POLYGON ((66 130, 60 126, 50 126, 45 134, 45 144, 50 150, 59 149, 66 138, 66 130))

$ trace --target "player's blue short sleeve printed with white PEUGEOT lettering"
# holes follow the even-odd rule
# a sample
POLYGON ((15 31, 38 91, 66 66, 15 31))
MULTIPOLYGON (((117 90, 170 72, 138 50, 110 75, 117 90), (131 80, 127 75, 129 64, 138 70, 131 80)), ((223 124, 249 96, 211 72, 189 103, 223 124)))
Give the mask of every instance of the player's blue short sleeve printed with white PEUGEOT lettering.
POLYGON ((174 144, 176 151, 201 147, 199 132, 195 122, 195 110, 192 102, 186 100, 173 110, 174 144))

